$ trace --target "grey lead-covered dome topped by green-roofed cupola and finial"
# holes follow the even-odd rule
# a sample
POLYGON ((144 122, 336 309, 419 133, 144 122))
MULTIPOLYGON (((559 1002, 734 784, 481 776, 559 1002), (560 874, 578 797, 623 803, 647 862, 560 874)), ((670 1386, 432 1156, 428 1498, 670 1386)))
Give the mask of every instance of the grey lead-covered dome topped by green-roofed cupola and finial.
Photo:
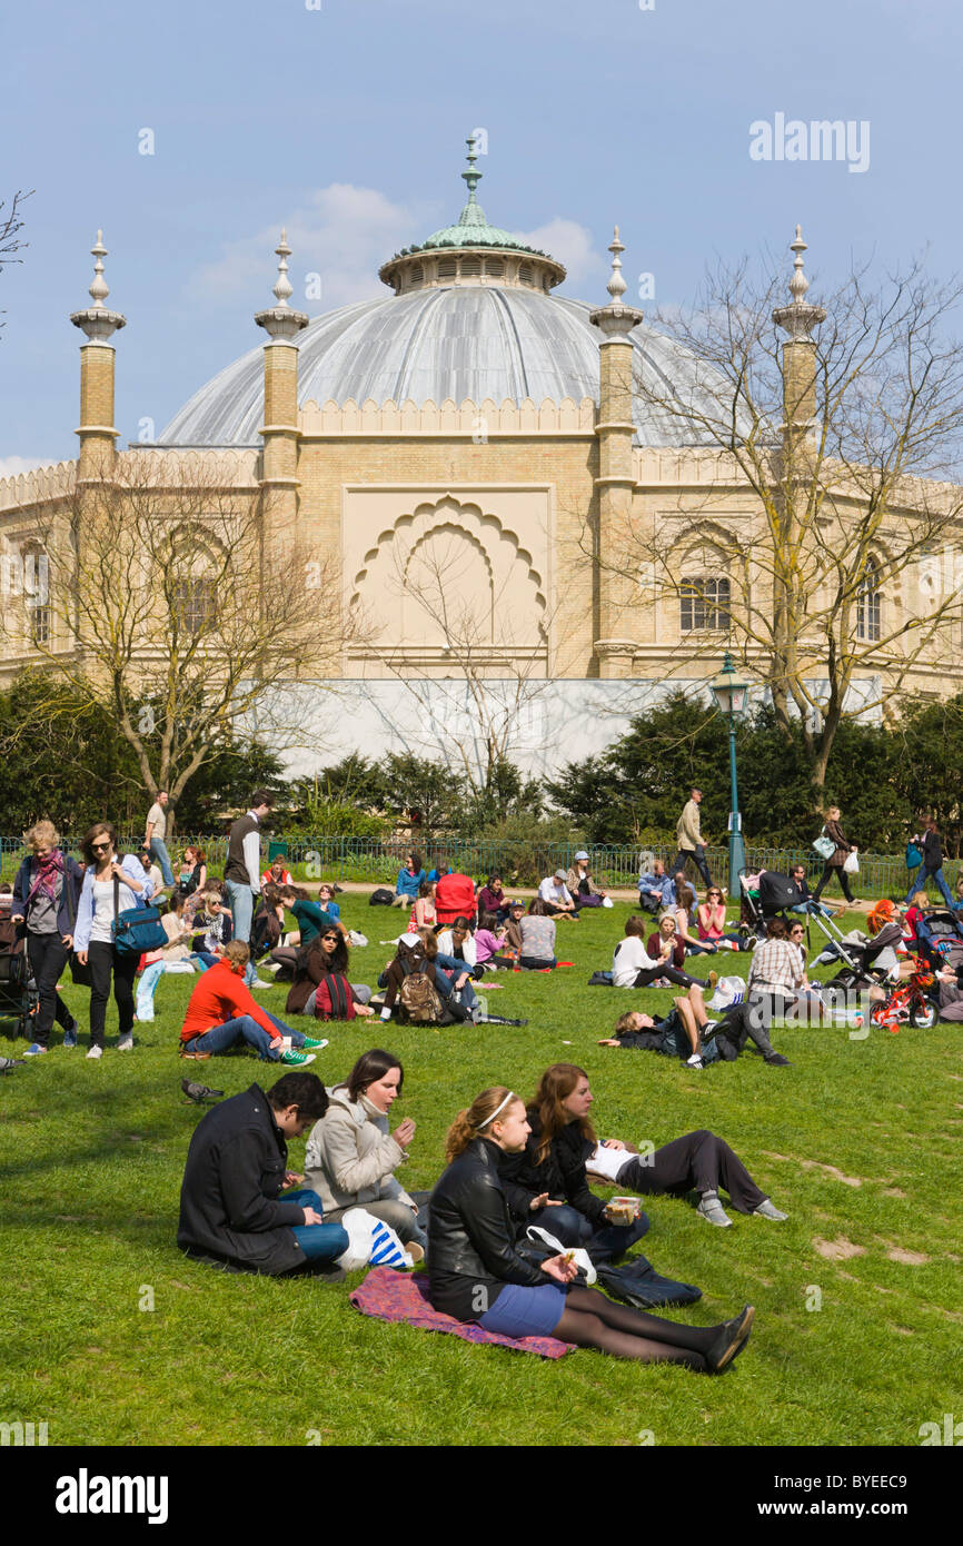
MULTIPOLYGON (((458 223, 382 266, 396 294, 340 306, 298 334, 300 405, 598 400, 594 308, 552 295, 566 274, 561 263, 488 226, 475 196, 473 141, 468 164, 458 223)), ((717 417, 720 380, 652 328, 635 328, 631 340, 635 377, 657 379, 675 404, 665 411, 635 399, 637 444, 702 444, 696 422, 717 417)), ((263 394, 263 349, 254 348, 195 393, 159 442, 255 445, 263 394)))

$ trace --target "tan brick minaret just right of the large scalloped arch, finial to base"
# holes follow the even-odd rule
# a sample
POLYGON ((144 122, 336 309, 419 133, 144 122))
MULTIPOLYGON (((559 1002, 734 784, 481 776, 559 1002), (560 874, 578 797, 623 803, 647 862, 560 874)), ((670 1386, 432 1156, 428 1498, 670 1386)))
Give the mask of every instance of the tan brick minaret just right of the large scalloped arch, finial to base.
POLYGON ((632 674, 635 645, 624 637, 624 608, 629 601, 629 521, 632 510, 632 340, 629 334, 641 322, 641 312, 623 306, 626 281, 621 277, 620 252, 624 243, 615 237, 609 244, 612 277, 606 286, 612 301, 589 317, 604 339, 598 345, 598 637, 595 657, 600 677, 632 674))

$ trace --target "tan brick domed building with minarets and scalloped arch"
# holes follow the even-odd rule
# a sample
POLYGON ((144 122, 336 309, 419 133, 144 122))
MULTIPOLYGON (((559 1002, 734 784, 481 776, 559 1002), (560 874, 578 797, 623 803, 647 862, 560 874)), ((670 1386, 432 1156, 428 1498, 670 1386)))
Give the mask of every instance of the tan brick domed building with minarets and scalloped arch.
MULTIPOLYGON (((198 467, 229 458, 238 498, 269 498, 275 532, 337 560, 337 707, 292 685, 297 770, 386 745, 552 770, 612 741, 651 694, 711 677, 727 643, 723 533, 759 515, 705 428, 728 383, 623 303, 618 230, 607 305, 556 295, 564 266, 488 224, 476 161, 470 139, 458 221, 388 258, 377 300, 294 311, 281 232, 277 305, 255 318, 267 343, 156 442, 198 467), (654 532, 671 533, 674 595, 646 577, 654 532)), ((0 484, 9 550, 85 456, 113 453, 108 339, 125 318, 104 308, 94 254, 94 305, 71 318, 87 337, 80 461, 0 484)), ((782 325, 791 373, 812 340, 782 325)), ((926 688, 935 671, 917 676, 926 688)), ((870 702, 878 685, 850 694, 870 702)))

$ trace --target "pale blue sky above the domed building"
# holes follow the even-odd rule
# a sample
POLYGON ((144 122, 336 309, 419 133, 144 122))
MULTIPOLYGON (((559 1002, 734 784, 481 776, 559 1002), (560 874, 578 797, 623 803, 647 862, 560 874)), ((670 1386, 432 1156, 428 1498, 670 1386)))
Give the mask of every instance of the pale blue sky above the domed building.
POLYGON ((0 198, 36 192, 23 264, 0 271, 0 473, 76 455, 68 315, 88 303, 97 227, 128 320, 124 445, 263 342, 281 224, 294 305, 377 295, 379 263, 456 218, 479 127, 490 221, 561 258, 564 294, 604 300, 614 221, 626 298, 645 271, 658 305, 691 300, 717 257, 768 249, 788 277, 796 221, 813 298, 853 258, 880 277, 923 250, 937 277, 958 264, 951 0, 314 3, 8 8, 0 198), (750 125, 779 113, 867 122, 867 170, 753 161, 750 125))

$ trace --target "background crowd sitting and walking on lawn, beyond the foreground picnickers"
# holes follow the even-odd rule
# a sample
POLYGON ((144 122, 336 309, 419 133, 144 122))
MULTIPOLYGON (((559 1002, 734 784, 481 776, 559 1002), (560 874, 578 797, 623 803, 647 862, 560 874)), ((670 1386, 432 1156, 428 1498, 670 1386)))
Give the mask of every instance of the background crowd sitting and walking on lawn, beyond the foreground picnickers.
MULTIPOLYGON (((774 915, 761 917, 754 887, 765 872, 745 877, 739 918, 727 917, 722 889, 713 884, 699 832, 699 790, 679 824, 679 853, 668 875, 660 860, 645 861, 638 877, 640 914, 624 923, 614 949, 611 971, 594 982, 617 988, 677 988, 680 994, 668 1016, 652 1020, 631 1011, 618 1020, 615 1036, 623 1047, 685 1053, 692 1067, 728 1059, 751 1042, 771 1065, 785 1065, 768 1028, 781 1016, 808 1003, 825 1006, 822 989, 807 976, 804 935, 810 920, 829 923, 838 912, 822 903, 821 892, 838 875, 846 903, 852 903, 847 872, 856 852, 841 827, 838 807, 829 807, 821 838, 815 844, 824 861, 822 875, 810 892, 804 864, 782 877, 784 890, 774 915), (706 881, 699 897, 685 867, 706 881), (646 921, 648 920, 648 921, 646 921), (829 920, 829 921, 827 921, 829 920), (694 974, 692 960, 722 952, 750 954, 744 991, 722 1005, 723 1014, 706 1013, 703 986, 714 994, 720 977, 694 974), (623 1023, 624 1022, 624 1023, 623 1023), (631 1023, 629 1023, 631 1022, 631 1023)), ((441 863, 427 870, 420 853, 410 852, 393 892, 376 892, 396 908, 408 908, 408 925, 393 942, 377 983, 357 980, 351 951, 366 943, 340 917, 337 887, 331 881, 308 887, 295 881, 284 858, 261 866, 261 822, 272 798, 257 790, 250 809, 232 824, 223 877, 213 875, 207 855, 187 844, 175 867, 164 841, 167 801, 151 807, 145 841, 138 853, 119 853, 110 822, 96 822, 82 843, 77 863, 60 847, 48 821, 26 835, 29 856, 17 873, 11 918, 25 937, 25 951, 36 985, 29 1054, 49 1047, 53 1027, 63 1030, 63 1044, 77 1045, 77 1022, 65 1008, 59 982, 66 968, 74 983, 90 986, 90 1050, 97 1059, 105 1047, 105 1011, 113 988, 119 1016, 117 1050, 133 1050, 133 1027, 155 1017, 159 982, 167 974, 198 974, 184 1019, 185 1056, 206 1057, 241 1042, 263 1057, 300 1067, 312 1059, 314 1042, 286 1023, 291 1017, 352 1020, 393 1014, 451 1025, 459 1022, 526 1023, 487 1013, 478 991, 499 985, 502 971, 555 972, 570 962, 560 960, 558 928, 578 923, 586 908, 611 908, 607 887, 592 873, 587 850, 577 850, 570 867, 543 878, 530 900, 505 894, 502 877, 490 873, 484 884, 441 863), (167 877, 170 877, 165 884, 167 877), (158 914, 156 903, 165 911, 158 914), (153 906, 150 923, 138 914, 153 906), (130 931, 130 940, 117 928, 130 931), (294 925, 294 926, 292 926, 294 925), (258 976, 258 968, 264 976, 258 976), (213 976, 212 976, 213 974, 213 976), (139 977, 139 980, 138 980, 139 977), (288 985, 284 1020, 266 1014, 252 997, 288 985)), ((932 880, 949 897, 943 877, 943 850, 935 821, 926 822, 909 853, 920 858, 914 877, 932 880)), ((779 877, 776 877, 779 880, 779 877)), ((963 881, 957 887, 963 897, 963 881)), ((373 900, 376 900, 373 898, 373 900)), ((952 897, 951 897, 952 901, 952 897)), ((910 889, 903 906, 880 903, 867 918, 869 940, 850 942, 858 951, 863 986, 870 1003, 886 999, 886 977, 900 982, 907 965, 923 952, 934 968, 929 997, 944 1019, 963 1016, 963 945, 951 940, 937 955, 927 940, 931 903, 924 889, 910 889)), ((145 914, 147 917, 147 914, 145 914)), ((963 931, 960 931, 963 935, 963 931)), ((833 952, 853 965, 849 951, 829 938, 819 962, 833 952)), ((742 979, 727 979, 727 982, 742 979)))

